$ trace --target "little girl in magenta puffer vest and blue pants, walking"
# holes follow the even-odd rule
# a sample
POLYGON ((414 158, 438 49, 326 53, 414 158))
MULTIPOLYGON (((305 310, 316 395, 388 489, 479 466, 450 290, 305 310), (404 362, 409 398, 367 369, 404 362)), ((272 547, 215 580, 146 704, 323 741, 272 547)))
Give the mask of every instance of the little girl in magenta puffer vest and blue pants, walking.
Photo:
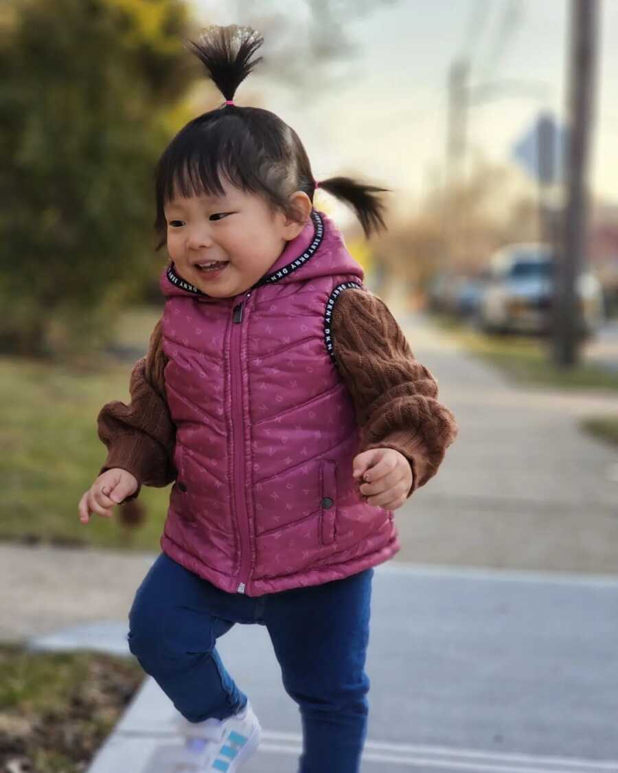
MULTIPOLYGON (((260 741, 216 639, 267 627, 303 727, 301 773, 359 770, 373 567, 399 550, 394 511, 457 436, 432 374, 313 208, 301 140, 233 103, 260 60, 252 29, 210 27, 192 49, 226 103, 188 123, 156 170, 170 260, 165 310, 98 417, 108 455, 79 504, 108 516, 141 485, 171 489, 162 553, 131 608, 131 652, 180 713, 178 771, 239 770, 260 741)), ((320 183, 365 231, 385 189, 320 183)))

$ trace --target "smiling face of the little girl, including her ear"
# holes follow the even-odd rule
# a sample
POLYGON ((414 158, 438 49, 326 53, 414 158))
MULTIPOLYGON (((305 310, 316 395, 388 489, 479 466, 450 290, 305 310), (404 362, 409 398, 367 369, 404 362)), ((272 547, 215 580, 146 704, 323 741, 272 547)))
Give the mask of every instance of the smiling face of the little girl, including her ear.
POLYGON ((287 241, 303 230, 311 213, 308 196, 291 197, 304 215, 302 223, 273 213, 254 193, 222 180, 225 196, 175 197, 165 204, 168 253, 178 273, 206 295, 232 298, 248 290, 277 261, 287 241), (222 262, 209 271, 199 264, 222 262))

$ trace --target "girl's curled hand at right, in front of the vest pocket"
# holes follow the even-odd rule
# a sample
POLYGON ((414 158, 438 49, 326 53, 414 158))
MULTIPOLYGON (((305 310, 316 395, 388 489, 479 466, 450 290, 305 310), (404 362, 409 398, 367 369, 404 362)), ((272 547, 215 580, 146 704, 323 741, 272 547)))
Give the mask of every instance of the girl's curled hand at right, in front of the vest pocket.
POLYGON ((402 453, 394 448, 371 448, 355 456, 352 465, 352 475, 365 481, 360 491, 369 505, 396 510, 406 501, 413 474, 402 453))

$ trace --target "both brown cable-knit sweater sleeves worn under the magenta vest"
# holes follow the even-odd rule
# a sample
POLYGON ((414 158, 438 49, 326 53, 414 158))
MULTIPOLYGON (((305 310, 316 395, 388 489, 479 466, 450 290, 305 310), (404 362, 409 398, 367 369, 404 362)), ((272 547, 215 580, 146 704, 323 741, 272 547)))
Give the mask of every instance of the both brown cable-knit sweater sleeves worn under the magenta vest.
MULTIPOLYGON (((411 495, 424 485, 457 437, 451 411, 438 402, 436 380, 416 361, 405 335, 384 301, 370 291, 342 293, 331 319, 334 355, 354 403, 361 428, 360 451, 395 448, 413 472, 411 495)), ((104 466, 122 468, 141 485, 161 487, 177 475, 173 464, 175 425, 165 399, 161 321, 151 334, 148 354, 131 374, 131 403, 107 403, 97 418, 107 446, 104 466)), ((100 474, 99 473, 99 474, 100 474)))

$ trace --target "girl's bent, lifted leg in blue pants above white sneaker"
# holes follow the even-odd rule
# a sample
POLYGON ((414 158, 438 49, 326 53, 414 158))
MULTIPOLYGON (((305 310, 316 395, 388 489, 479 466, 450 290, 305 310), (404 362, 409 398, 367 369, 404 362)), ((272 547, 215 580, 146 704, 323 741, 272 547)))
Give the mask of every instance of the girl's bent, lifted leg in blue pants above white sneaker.
POLYGON ((212 614, 213 606, 220 611, 221 596, 218 588, 161 553, 129 613, 129 649, 191 722, 225 719, 246 703, 215 647, 234 625, 212 614))

